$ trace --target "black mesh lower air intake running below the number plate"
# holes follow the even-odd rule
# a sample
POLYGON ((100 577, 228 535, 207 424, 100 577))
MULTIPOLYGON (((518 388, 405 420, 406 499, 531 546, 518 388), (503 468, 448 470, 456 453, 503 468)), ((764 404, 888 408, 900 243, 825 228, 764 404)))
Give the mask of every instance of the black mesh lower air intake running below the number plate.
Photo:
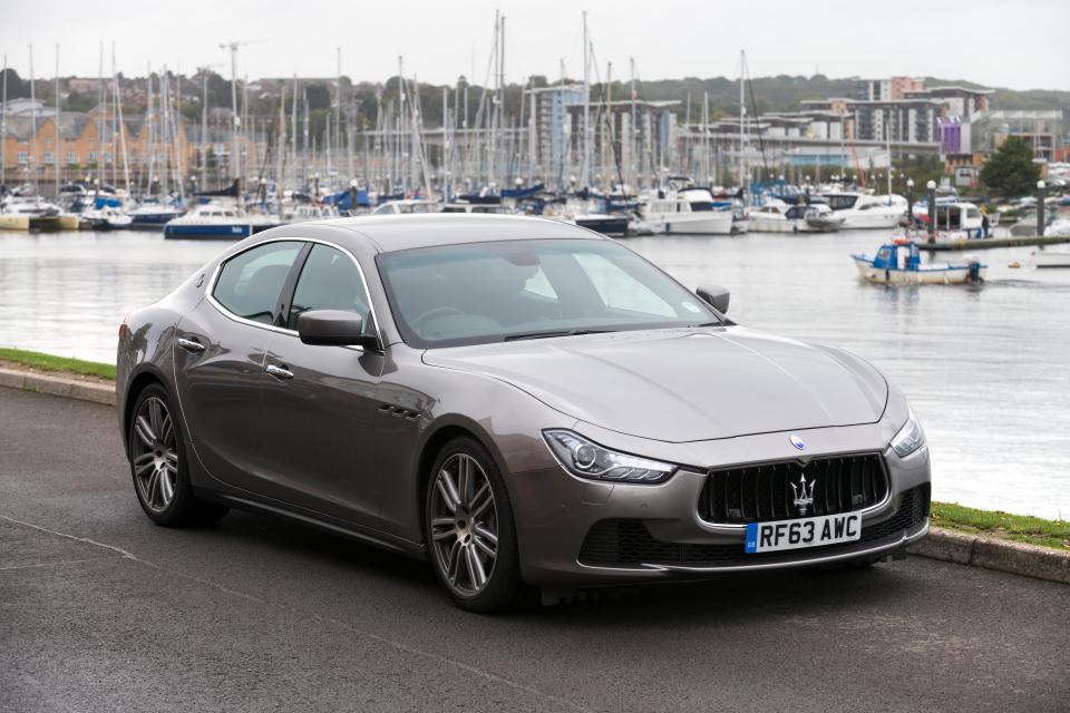
POLYGON ((906 490, 895 514, 862 528, 854 543, 825 545, 795 551, 747 554, 742 539, 733 545, 662 543, 653 538, 642 520, 602 520, 587 533, 580 549, 580 563, 596 567, 675 565, 716 567, 758 563, 797 561, 813 556, 870 549, 898 541, 904 531, 916 529, 928 517, 928 484, 906 490))

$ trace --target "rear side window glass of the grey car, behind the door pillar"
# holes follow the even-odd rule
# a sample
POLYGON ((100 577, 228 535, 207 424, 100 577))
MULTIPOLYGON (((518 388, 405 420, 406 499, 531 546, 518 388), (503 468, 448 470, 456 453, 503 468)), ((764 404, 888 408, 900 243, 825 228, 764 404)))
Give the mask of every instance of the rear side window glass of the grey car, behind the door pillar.
POLYGON ((240 318, 271 324, 301 247, 296 241, 268 243, 235 255, 223 263, 212 296, 240 318))

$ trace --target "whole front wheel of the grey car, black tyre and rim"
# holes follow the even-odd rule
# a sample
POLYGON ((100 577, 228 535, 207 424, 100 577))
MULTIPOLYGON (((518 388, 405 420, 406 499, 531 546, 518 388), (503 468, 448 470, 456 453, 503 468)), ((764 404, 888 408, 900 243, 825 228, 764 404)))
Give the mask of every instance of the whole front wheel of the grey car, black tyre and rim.
POLYGON ((455 438, 435 459, 425 491, 424 536, 435 575, 459 607, 490 613, 535 600, 536 590, 521 576, 505 481, 475 439, 455 438))

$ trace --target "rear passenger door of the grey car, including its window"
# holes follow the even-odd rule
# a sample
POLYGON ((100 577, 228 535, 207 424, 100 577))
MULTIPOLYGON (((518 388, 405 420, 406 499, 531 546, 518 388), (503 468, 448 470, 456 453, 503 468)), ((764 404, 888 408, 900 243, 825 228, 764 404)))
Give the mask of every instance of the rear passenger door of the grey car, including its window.
POLYGON ((289 310, 281 295, 308 244, 263 243, 224 262, 208 296, 176 328, 175 378, 201 462, 228 485, 252 489, 264 433, 254 423, 268 342, 289 310))

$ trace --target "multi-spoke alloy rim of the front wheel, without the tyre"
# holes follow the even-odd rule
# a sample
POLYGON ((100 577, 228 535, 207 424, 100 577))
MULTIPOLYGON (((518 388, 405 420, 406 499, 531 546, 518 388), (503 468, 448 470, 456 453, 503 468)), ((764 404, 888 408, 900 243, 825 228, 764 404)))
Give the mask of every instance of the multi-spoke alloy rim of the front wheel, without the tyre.
POLYGON ((444 579, 460 596, 479 594, 498 558, 498 510, 490 479, 475 458, 458 452, 442 462, 428 516, 444 579))

